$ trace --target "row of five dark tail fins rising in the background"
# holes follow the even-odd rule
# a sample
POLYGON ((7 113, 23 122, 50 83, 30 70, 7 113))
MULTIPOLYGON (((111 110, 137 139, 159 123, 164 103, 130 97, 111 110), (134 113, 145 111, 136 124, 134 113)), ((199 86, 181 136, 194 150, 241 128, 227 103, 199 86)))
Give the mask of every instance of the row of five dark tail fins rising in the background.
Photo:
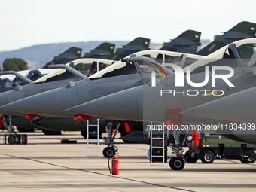
MULTIPOLYGON (((209 53, 218 50, 226 44, 230 44, 233 41, 237 41, 242 38, 253 38, 254 23, 250 22, 241 22, 236 26, 233 26, 227 32, 224 32, 223 35, 215 35, 214 41, 204 47, 202 50, 197 52, 198 46, 200 43, 201 32, 194 30, 187 30, 178 37, 172 39, 170 42, 164 42, 163 47, 159 50, 169 50, 181 53, 192 53, 202 56, 207 56, 209 53)), ((139 52, 141 50, 149 50, 150 39, 148 38, 135 38, 130 43, 124 45, 122 48, 115 49, 115 44, 108 42, 100 44, 94 50, 91 50, 89 53, 84 53, 82 58, 96 58, 96 59, 111 59, 111 60, 120 60, 125 56, 128 56, 132 53, 139 52)), ((75 59, 81 58, 82 49, 78 47, 71 47, 66 50, 64 53, 59 56, 54 56, 53 60, 47 62, 45 66, 67 63, 75 59)))

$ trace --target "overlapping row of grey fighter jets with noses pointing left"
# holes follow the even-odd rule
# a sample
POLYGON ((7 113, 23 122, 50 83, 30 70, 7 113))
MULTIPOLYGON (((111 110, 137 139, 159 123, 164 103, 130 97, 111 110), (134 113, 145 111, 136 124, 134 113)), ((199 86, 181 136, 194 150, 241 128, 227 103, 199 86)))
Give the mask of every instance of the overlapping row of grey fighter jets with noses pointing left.
MULTIPOLYGON (((99 118, 107 122, 108 130, 120 123, 142 128, 148 122, 179 127, 217 124, 223 125, 226 130, 221 134, 230 139, 256 143, 251 100, 256 82, 255 32, 255 23, 239 23, 206 47, 208 51, 218 47, 207 56, 142 50, 117 62, 83 58, 66 65, 48 65, 57 70, 36 81, 20 77, 25 85, 0 94, 0 114, 26 115, 41 127, 54 127, 54 122, 73 118, 81 122, 99 118), (230 125, 242 126, 245 131, 231 130, 230 125), (246 129, 248 126, 251 129, 246 129)), ((170 166, 183 169, 178 139, 182 132, 173 134, 175 157, 170 166)), ((113 140, 105 139, 105 157, 116 151, 113 140)))

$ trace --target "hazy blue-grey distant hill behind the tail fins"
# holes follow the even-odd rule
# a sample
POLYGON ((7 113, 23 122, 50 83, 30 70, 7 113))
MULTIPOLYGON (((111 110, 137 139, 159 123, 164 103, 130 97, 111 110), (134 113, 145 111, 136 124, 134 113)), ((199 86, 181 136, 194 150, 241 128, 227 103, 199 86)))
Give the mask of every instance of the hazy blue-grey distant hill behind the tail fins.
MULTIPOLYGON (((2 51, 0 52, 0 66, 2 66, 3 61, 6 58, 17 57, 29 63, 29 69, 37 69, 44 66, 47 62, 53 59, 53 56, 59 56, 69 47, 79 47, 83 49, 81 56, 84 56, 84 52, 89 52, 102 44, 103 41, 87 41, 87 42, 77 42, 77 43, 59 43, 59 44, 38 44, 31 47, 25 47, 19 50, 2 51)), ((116 44, 116 48, 123 47, 129 41, 108 41, 109 43, 116 44)), ((207 41, 207 44, 209 41, 207 41)), ((203 42, 202 44, 206 44, 203 42)), ((151 50, 159 49, 162 44, 150 44, 151 50)))

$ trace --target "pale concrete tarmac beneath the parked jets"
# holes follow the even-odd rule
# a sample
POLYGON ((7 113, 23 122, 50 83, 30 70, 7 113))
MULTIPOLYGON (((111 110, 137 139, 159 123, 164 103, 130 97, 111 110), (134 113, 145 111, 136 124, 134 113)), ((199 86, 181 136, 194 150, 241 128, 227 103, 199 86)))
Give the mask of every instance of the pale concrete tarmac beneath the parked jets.
MULTIPOLYGON (((1 133, 2 134, 2 133, 1 133)), ((255 191, 256 163, 215 160, 186 163, 181 171, 150 166, 148 145, 125 144, 117 139, 119 174, 108 171, 99 145, 99 157, 87 157, 86 140, 79 132, 62 136, 28 133, 27 145, 0 144, 1 191, 255 191), (61 144, 61 139, 76 144, 61 144)), ((2 138, 1 138, 2 139, 2 138)), ((102 140, 100 140, 102 142, 102 140)), ((96 151, 90 151, 96 154, 96 151)))

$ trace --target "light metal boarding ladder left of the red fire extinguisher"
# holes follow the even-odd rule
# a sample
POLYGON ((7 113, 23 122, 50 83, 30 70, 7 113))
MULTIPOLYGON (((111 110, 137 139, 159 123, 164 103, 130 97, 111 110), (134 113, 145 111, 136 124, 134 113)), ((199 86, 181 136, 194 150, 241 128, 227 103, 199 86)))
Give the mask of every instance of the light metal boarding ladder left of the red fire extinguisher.
POLYGON ((87 120, 87 157, 99 157, 99 119, 94 124, 90 124, 90 120, 87 120), (97 127, 97 131, 93 132, 92 129, 95 127, 97 127), (90 134, 96 134, 97 139, 90 139, 90 134), (95 144, 97 144, 97 147, 95 147, 95 144), (97 154, 90 154, 90 149, 96 149, 97 154))

